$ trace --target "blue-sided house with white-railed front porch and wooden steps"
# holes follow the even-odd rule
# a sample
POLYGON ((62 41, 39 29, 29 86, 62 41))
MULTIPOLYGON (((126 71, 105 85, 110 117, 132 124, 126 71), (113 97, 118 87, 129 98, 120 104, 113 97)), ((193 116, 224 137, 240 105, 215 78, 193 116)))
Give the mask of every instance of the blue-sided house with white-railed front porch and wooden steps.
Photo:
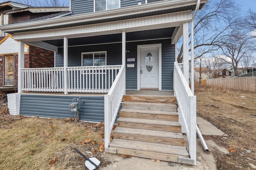
POLYGON ((19 44, 18 93, 8 96, 13 114, 66 119, 74 116, 69 104, 81 97, 80 120, 105 123, 106 152, 195 165, 196 97, 188 86, 188 35, 192 12, 207 0, 151 2, 71 0, 72 16, 2 26, 19 44), (175 62, 180 37, 183 73, 175 62), (55 67, 25 68, 24 43, 55 51, 55 67), (140 94, 145 90, 147 95, 140 94), (120 131, 110 142, 120 108, 120 131))

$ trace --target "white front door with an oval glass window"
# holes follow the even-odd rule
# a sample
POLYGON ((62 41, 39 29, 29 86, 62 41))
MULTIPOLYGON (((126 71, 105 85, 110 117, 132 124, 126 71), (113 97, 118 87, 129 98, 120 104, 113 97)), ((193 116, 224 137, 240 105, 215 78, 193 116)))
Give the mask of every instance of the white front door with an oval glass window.
POLYGON ((140 88, 158 89, 158 47, 140 49, 140 88))

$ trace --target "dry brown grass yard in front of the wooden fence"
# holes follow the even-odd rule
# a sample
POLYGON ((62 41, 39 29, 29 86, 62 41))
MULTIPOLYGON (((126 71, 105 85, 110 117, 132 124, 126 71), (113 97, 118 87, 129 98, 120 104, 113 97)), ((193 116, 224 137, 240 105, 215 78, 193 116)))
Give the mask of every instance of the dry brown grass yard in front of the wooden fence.
POLYGON ((221 160, 218 162, 218 168, 228 169, 234 165, 249 168, 248 163, 255 164, 253 160, 256 160, 256 93, 224 91, 199 84, 196 85, 195 95, 197 96, 197 115, 228 134, 220 138, 205 137, 215 138, 218 144, 227 149, 235 148, 234 153, 222 159, 220 159, 221 156, 216 156, 221 160))

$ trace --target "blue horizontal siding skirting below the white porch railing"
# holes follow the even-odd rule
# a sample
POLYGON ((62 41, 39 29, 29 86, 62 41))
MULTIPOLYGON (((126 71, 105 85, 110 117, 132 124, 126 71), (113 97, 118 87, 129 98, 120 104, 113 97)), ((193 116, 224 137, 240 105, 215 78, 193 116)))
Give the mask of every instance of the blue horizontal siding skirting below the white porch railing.
POLYGON ((20 115, 73 118, 74 114, 71 113, 69 105, 73 98, 78 97, 85 102, 80 104, 79 117, 81 121, 104 122, 103 96, 21 95, 20 115))

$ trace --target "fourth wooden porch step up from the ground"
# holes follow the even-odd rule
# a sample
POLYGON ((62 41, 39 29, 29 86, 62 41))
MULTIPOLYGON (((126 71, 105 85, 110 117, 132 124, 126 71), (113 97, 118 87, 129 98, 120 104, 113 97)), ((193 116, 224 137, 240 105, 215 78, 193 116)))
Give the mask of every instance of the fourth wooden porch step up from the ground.
POLYGON ((119 112, 119 115, 120 117, 164 120, 164 121, 178 121, 178 118, 179 118, 177 112, 146 111, 146 110, 134 110, 134 109, 121 109, 119 112))

